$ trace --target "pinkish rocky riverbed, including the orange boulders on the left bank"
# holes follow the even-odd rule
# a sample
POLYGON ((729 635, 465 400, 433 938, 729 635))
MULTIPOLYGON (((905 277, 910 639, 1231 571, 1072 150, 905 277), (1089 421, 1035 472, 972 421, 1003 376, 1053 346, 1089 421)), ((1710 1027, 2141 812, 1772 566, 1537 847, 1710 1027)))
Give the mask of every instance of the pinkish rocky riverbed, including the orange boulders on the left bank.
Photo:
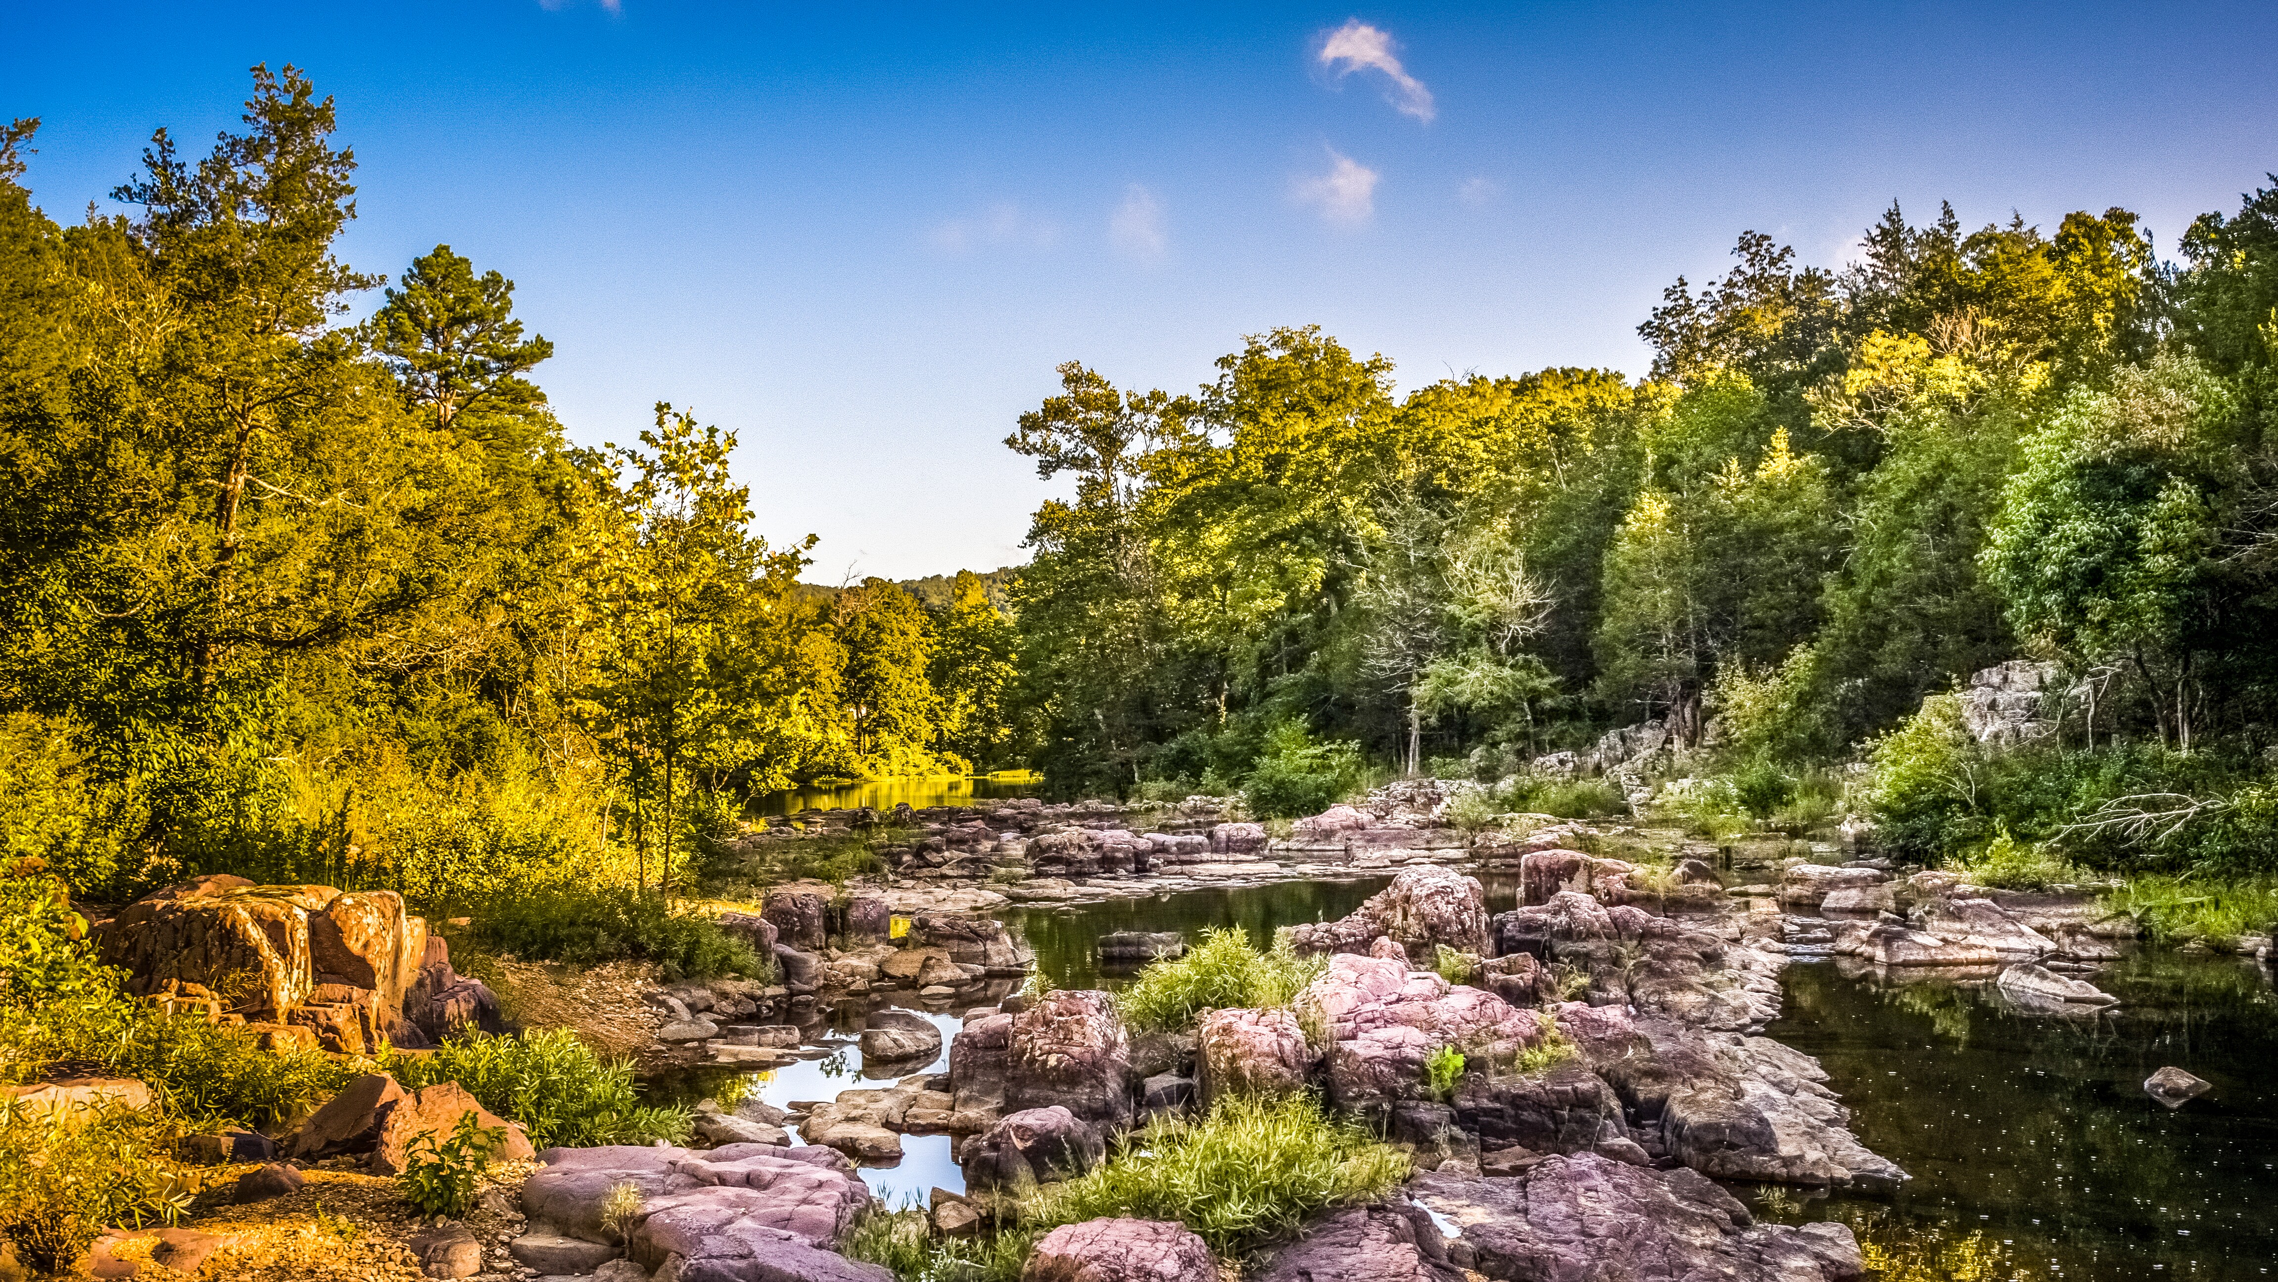
MULTIPOLYGON (((478 1273, 877 1280, 831 1250, 866 1207, 916 1198, 939 1232, 970 1232, 991 1195, 1100 1161, 1155 1111, 1312 1088, 1406 1145, 1424 1175, 1383 1205, 1326 1216, 1264 1275, 1367 1259, 1371 1277, 1620 1277, 1656 1259, 1683 1277, 1847 1277, 1868 1259, 1854 1225, 1888 1223, 1918 1173, 1873 1139, 1888 1129, 1861 1125, 1857 1073, 1829 1073, 1825 1047, 1779 1036, 1797 1027, 1795 965, 1834 970, 1847 991, 1982 993, 2039 1025, 2128 1018, 2125 986, 2114 1000, 2098 981, 2134 954, 2132 924, 2084 893, 2007 895, 1802 843, 1718 849, 1547 817, 1460 831, 1444 806, 1447 790, 1396 786, 1283 838, 1203 802, 1169 815, 1009 802, 891 817, 923 833, 893 843, 891 877, 781 886, 756 911, 722 913, 777 959, 777 981, 647 993, 652 1073, 699 1104, 697 1145, 538 1154, 510 1264, 478 1273), (1023 991, 1039 952, 1055 979, 1114 984, 1212 920, 1196 904, 1257 936, 1287 924, 1328 970, 1287 1011, 1219 1011, 1180 1036, 1132 1036, 1091 986, 1023 991), (1103 945, 1109 924, 1125 934, 1103 945), (1451 1045, 1467 1070, 1433 1091, 1424 1061, 1451 1045), (624 1184, 640 1205, 604 1225, 597 1198, 624 1184), (1795 1193, 1756 1209, 1734 1198, 1765 1186, 1795 1193)), ((818 815, 763 843, 875 820, 818 815)), ((244 886, 169 895, 121 913, 128 924, 105 927, 105 940, 121 956, 175 956, 139 968, 137 984, 182 1002, 216 991, 200 993, 180 961, 200 954, 134 945, 134 929, 159 927, 128 927, 171 922, 175 938, 205 911, 200 895, 296 904, 244 886)), ((344 909, 374 915, 351 897, 298 906, 317 922, 310 977, 305 991, 292 977, 271 988, 408 1020, 433 1018, 433 995, 467 984, 410 938, 424 931, 410 918, 392 936, 355 936, 371 963, 355 972, 364 997, 328 986, 349 931, 335 938, 323 920, 353 918, 344 909), (419 965, 405 965, 412 954, 419 965), (390 993, 401 993, 392 1011, 390 993)), ((246 954, 216 947, 207 954, 223 961, 246 954)), ((1804 991, 1820 1000, 1827 986, 1804 991)), ((481 1018, 485 1004, 449 1009, 481 1018)), ((271 1013, 280 1029, 344 1025, 271 1013)), ((446 1100, 403 1111, 385 1084, 369 1093, 330 1109, 355 1118, 317 1127, 344 1139, 303 1157, 369 1166, 385 1145, 358 1145, 390 1116, 449 1111, 446 1100)), ((317 1123, 282 1136, 287 1157, 317 1123)), ((1948 1168, 1932 1170, 1950 1184, 1948 1168)), ((1191 1262, 1160 1225, 1100 1225, 1055 1234, 1050 1259, 1077 1271, 1089 1259, 1100 1275, 1125 1257, 1191 1262)))

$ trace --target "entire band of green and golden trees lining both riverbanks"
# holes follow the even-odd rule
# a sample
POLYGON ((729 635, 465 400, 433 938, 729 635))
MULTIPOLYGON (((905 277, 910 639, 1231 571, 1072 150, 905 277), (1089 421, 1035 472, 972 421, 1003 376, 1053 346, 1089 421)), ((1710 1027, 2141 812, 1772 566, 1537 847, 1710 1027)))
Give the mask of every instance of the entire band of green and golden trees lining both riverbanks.
POLYGON ((1834 266, 1745 232, 1638 326, 1645 378, 1401 392, 1317 326, 1187 392, 1071 360, 1005 442, 1068 485, 1030 565, 816 587, 731 430, 661 398, 574 446, 510 280, 344 262, 333 134, 255 68, 239 130, 159 130, 71 225, 36 121, 0 134, 7 845, 87 893, 672 886, 831 776, 1287 811, 1636 722, 1804 772, 2018 656, 2093 683, 2114 779, 2187 756, 2230 806, 2273 747, 2278 187, 2178 262, 2128 209, 1893 205, 1834 266))

